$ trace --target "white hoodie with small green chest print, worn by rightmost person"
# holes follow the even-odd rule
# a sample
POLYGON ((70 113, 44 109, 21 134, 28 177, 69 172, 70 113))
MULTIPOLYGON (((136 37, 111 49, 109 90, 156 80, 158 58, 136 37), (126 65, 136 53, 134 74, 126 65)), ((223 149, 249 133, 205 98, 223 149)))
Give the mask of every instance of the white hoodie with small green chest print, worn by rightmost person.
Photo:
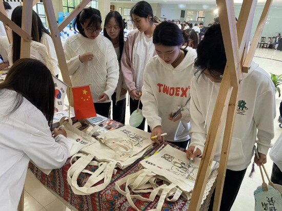
MULTIPOLYGON (((197 146, 203 153, 220 83, 197 75, 193 78, 191 87, 189 146, 197 146)), ((238 94, 237 114, 227 164, 227 168, 233 171, 244 170, 251 163, 256 138, 258 152, 267 154, 274 137, 273 119, 276 115, 273 82, 254 62, 249 72, 243 73, 238 94)), ((214 156, 214 160, 218 162, 222 134, 223 132, 214 156)))

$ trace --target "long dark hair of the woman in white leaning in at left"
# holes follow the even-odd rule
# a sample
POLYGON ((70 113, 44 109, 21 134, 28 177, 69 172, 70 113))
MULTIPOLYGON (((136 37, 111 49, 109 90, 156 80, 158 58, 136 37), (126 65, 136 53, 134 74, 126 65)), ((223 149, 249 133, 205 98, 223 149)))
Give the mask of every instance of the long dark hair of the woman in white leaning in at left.
POLYGON ((40 110, 52 128, 55 103, 54 81, 50 70, 39 60, 22 58, 14 62, 3 83, 0 83, 0 94, 4 89, 17 92, 11 105, 11 114, 15 112, 25 97, 40 110))

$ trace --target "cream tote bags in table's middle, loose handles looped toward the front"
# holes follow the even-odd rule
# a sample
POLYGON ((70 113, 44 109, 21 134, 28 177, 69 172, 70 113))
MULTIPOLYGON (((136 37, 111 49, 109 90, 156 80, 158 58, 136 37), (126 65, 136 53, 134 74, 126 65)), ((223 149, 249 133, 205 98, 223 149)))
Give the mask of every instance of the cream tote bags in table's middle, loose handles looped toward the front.
MULTIPOLYGON (((92 135, 94 131, 95 128, 88 128, 85 133, 92 135)), ((80 153, 75 154, 71 159, 72 162, 79 157, 68 170, 68 183, 74 194, 89 195, 102 191, 115 174, 115 167, 121 169, 128 167, 142 157, 154 143, 149 133, 129 125, 108 131, 98 136, 97 139, 96 142, 81 149, 80 153), (96 165, 98 168, 95 172, 90 172, 84 169, 87 165, 96 165), (91 174, 84 186, 77 185, 77 177, 81 172, 91 174), (95 185, 103 179, 103 183, 95 185)))

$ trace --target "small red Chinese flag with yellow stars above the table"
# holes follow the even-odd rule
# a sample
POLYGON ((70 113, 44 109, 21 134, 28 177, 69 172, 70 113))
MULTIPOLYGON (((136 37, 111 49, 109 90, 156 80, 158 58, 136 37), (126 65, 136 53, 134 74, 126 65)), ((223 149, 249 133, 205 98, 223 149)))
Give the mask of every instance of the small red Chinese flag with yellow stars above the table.
POLYGON ((83 87, 72 87, 72 94, 76 119, 86 119, 97 116, 89 85, 83 87))

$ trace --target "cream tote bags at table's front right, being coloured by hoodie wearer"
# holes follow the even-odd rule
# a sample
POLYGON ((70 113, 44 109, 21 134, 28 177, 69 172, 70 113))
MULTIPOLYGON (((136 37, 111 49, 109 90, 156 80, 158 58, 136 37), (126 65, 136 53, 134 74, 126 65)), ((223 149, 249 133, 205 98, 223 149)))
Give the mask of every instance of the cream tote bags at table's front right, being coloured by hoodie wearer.
MULTIPOLYGON (((197 177, 200 158, 194 158, 189 164, 186 153, 166 145, 163 150, 140 162, 144 167, 139 172, 126 176, 115 183, 116 190, 126 196, 130 205, 139 210, 132 201, 136 198, 143 201, 154 201, 156 195, 160 195, 156 209, 161 210, 164 201, 177 201, 180 195, 187 200, 191 198, 197 177), (158 181, 163 180, 163 184, 158 185, 158 181), (126 183, 126 189, 123 191, 120 185, 126 183), (131 195, 133 193, 151 193, 149 198, 140 195, 131 195)), ((215 162, 212 164, 212 168, 215 162)), ((206 193, 207 195, 207 193, 206 193)))

